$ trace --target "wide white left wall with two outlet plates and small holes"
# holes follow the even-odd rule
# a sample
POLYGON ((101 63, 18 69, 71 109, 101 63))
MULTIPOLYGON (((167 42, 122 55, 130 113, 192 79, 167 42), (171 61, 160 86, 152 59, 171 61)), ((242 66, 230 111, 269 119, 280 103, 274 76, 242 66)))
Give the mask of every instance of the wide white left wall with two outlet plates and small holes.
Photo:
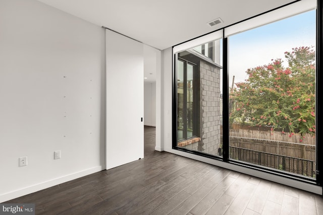
POLYGON ((104 169, 104 29, 2 0, 0 47, 0 202, 104 169))

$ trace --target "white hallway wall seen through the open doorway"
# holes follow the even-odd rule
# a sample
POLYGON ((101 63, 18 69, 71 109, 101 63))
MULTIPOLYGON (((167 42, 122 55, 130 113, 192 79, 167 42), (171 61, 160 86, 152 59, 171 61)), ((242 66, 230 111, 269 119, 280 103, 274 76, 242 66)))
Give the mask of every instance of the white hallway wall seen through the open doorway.
POLYGON ((144 83, 144 123, 156 126, 156 82, 144 83))

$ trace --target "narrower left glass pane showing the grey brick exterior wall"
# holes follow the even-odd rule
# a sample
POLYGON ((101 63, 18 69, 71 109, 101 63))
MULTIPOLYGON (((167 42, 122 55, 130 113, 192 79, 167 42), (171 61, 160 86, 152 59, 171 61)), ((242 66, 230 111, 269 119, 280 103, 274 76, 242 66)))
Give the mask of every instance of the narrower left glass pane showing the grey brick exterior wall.
MULTIPOLYGON (((178 116, 182 115, 186 121, 178 124, 177 146, 213 156, 222 156, 222 67, 219 65, 222 57, 221 41, 212 41, 178 54, 179 61, 184 61, 183 66, 181 64, 184 69, 184 101, 183 106, 178 104, 178 116), (196 51, 203 52, 203 55, 196 51), (204 55, 210 51, 213 63, 204 55), (183 110, 186 111, 182 113, 183 110)), ((179 75, 182 67, 178 66, 178 77, 182 76, 179 75)), ((178 82, 178 92, 180 90, 178 82)), ((181 96, 178 93, 178 99, 181 96)))

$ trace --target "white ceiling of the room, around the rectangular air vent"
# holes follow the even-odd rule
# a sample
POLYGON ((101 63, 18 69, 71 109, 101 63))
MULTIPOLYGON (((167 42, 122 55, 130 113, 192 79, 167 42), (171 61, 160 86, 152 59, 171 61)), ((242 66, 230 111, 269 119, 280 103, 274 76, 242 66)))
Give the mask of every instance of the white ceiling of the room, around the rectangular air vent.
POLYGON ((38 0, 163 50, 294 0, 38 0), (221 18, 224 23, 210 27, 221 18))

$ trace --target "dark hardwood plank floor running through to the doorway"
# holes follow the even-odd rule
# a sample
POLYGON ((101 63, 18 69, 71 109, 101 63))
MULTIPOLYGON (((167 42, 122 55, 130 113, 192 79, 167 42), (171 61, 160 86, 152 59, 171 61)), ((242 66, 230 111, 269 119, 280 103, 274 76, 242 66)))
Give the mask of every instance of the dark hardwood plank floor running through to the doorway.
POLYGON ((36 214, 323 214, 323 198, 166 152, 6 203, 35 203, 36 214))

